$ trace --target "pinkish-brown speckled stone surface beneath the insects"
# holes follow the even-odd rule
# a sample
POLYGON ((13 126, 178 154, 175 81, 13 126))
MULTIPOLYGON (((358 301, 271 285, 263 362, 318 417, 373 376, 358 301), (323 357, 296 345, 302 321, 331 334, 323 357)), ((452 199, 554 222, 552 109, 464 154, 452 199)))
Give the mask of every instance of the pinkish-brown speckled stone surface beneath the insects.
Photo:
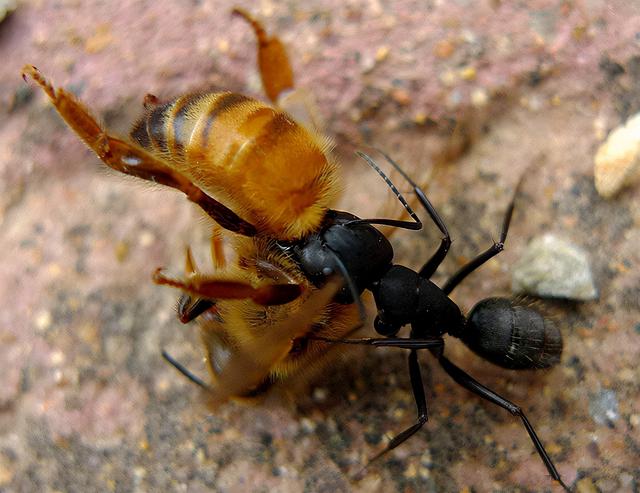
MULTIPOLYGON (((0 491, 559 491, 520 423, 429 354, 428 424, 361 481, 414 420, 403 351, 342 352, 293 399, 215 414, 163 363, 167 348, 203 370, 177 293, 150 275, 179 271, 187 243, 204 262, 207 227, 178 194, 105 172, 20 68, 121 133, 146 93, 260 95, 253 34, 228 14, 239 3, 24 0, 0 24, 0 491)), ((242 4, 318 99, 342 207, 370 216, 393 202, 352 153, 365 143, 425 183, 454 238, 436 282, 497 237, 527 170, 507 249, 453 298, 469 310, 509 295, 511 265, 551 232, 589 252, 600 299, 540 302, 564 334, 554 370, 501 370, 453 340, 447 354, 522 406, 573 488, 638 491, 640 189, 605 201, 592 166, 608 130, 640 110, 640 4, 242 4)), ((438 240, 431 224, 397 232, 396 260, 419 267, 438 240)))

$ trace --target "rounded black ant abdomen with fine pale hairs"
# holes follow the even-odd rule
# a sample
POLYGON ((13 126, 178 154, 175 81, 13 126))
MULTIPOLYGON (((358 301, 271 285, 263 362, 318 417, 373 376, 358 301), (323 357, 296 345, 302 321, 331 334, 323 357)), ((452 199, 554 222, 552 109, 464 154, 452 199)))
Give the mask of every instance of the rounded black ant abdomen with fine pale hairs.
POLYGON ((507 298, 480 301, 459 337, 486 360, 512 370, 549 368, 562 353, 556 325, 531 306, 507 298))

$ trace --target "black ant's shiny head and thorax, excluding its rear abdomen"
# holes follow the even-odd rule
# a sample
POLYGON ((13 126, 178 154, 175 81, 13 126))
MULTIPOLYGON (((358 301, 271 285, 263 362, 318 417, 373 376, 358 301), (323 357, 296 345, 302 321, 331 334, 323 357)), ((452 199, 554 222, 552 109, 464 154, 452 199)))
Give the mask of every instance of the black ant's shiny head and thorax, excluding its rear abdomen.
MULTIPOLYGON (((317 287, 341 272, 341 261, 358 297, 365 289, 373 293, 378 308, 375 327, 382 335, 393 336, 410 324, 416 335, 439 337, 447 327, 459 331, 465 323, 460 309, 438 286, 393 264, 389 240, 353 214, 328 211, 322 229, 286 250, 317 287)), ((345 286, 336 301, 354 303, 354 294, 345 286)))

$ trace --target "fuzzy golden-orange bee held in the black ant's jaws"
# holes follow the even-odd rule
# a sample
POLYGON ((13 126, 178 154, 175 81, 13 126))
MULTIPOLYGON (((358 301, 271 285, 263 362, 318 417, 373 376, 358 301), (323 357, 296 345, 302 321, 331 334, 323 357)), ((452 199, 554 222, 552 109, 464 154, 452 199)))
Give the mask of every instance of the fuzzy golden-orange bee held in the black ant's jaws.
MULTIPOLYGON (((282 96, 291 97, 293 75, 280 40, 268 37, 244 10, 235 9, 233 14, 254 28, 267 96, 274 103, 282 96)), ((215 277, 197 271, 187 253, 190 284, 180 287, 197 298, 181 299, 180 319, 188 322, 199 316, 214 375, 229 352, 253 353, 249 348, 257 341, 250 339, 260 327, 269 328, 274 347, 286 346, 286 350, 276 351, 277 357, 260 366, 255 381, 246 376, 235 380, 231 371, 226 373, 228 382, 218 386, 225 389, 224 396, 218 394, 220 401, 252 393, 253 387, 264 388, 266 382, 314 366, 327 352, 327 343, 315 341, 292 348, 291 341, 296 339, 292 334, 275 337, 276 321, 287 319, 287 314, 300 312, 299 326, 336 337, 355 325, 357 315, 352 316, 352 307, 332 305, 323 293, 313 294, 300 269, 276 248, 276 241, 300 240, 318 230, 339 195, 330 139, 274 105, 233 92, 191 93, 164 104, 147 96, 146 115, 133 125, 129 139, 121 139, 102 128, 71 93, 54 88, 38 69, 25 66, 23 77, 27 76, 107 166, 183 192, 220 227, 233 233, 228 239, 237 262, 225 262, 222 249, 217 248, 214 263, 226 267, 215 277), (323 303, 315 301, 317 296, 323 303), (215 306, 203 298, 214 298, 215 306), (311 305, 318 306, 311 309, 311 305), (275 343, 279 339, 283 344, 275 343)), ((219 242, 213 244, 219 246, 219 242)), ((160 284, 178 283, 160 272, 154 279, 160 284)), ((258 344, 263 346, 263 341, 258 344)), ((254 358, 246 358, 250 359, 254 358)))

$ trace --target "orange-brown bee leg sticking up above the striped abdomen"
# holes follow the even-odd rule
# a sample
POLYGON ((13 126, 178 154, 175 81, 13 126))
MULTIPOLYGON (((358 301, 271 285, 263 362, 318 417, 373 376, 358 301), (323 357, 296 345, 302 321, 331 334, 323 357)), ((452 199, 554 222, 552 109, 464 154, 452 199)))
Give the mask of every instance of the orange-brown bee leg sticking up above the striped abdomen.
POLYGON ((293 70, 284 45, 276 36, 269 37, 262 24, 246 10, 235 8, 231 14, 242 17, 253 28, 258 40, 258 67, 262 86, 269 99, 277 103, 283 92, 293 89, 293 70))

